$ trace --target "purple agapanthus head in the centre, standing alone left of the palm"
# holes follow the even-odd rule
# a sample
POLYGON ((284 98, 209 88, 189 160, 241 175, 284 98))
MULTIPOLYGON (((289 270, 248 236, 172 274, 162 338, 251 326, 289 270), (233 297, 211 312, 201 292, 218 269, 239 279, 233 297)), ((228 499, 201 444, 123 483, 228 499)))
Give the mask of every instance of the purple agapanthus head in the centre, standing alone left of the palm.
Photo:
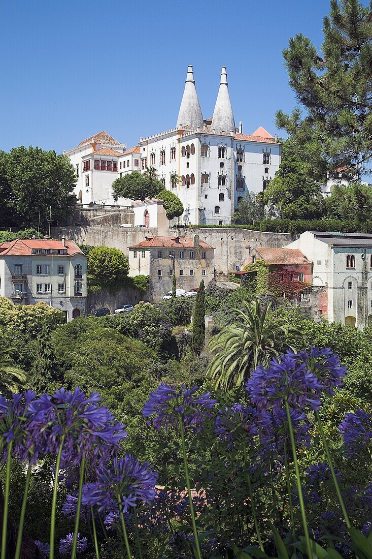
POLYGON ((155 429, 178 425, 181 418, 184 425, 192 425, 195 429, 201 429, 207 417, 211 416, 211 410, 216 404, 211 393, 197 395, 198 387, 187 389, 182 385, 175 390, 164 382, 155 390, 150 392, 150 399, 144 405, 142 414, 145 418, 154 416, 149 423, 155 429))

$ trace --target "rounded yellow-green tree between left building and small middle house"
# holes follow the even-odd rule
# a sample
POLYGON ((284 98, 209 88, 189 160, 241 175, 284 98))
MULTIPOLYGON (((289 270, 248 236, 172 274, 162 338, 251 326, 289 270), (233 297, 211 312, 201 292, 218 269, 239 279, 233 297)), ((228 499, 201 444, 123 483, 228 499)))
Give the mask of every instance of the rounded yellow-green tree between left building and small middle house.
POLYGON ((127 257, 116 248, 94 247, 88 255, 88 281, 90 286, 116 291, 128 276, 127 257))

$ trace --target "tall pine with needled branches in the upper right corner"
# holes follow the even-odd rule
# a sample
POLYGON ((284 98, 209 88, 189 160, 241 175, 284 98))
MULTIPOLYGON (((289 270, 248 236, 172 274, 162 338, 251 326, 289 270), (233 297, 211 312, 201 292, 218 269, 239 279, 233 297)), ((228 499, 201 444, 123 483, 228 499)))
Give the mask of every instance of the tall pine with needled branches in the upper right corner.
POLYGON ((308 37, 284 49, 289 84, 306 110, 276 113, 276 126, 304 146, 307 173, 323 180, 343 169, 347 178, 370 172, 372 159, 372 7, 331 0, 320 55, 308 37))

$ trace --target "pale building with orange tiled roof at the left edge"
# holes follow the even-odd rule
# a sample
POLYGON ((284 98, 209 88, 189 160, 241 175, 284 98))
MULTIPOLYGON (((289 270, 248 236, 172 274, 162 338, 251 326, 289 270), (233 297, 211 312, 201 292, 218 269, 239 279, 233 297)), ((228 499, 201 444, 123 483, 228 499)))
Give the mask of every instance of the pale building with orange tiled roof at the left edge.
POLYGON ((85 312, 87 257, 65 238, 1 243, 0 295, 16 305, 44 301, 66 320, 77 318, 85 312))

